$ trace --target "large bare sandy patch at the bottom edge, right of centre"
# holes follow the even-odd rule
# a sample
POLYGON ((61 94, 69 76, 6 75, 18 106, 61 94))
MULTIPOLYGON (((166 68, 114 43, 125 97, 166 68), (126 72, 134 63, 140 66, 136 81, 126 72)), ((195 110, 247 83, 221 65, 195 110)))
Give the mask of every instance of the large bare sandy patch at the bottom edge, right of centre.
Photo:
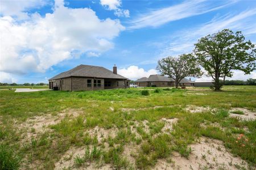
POLYGON ((193 150, 189 159, 174 152, 169 159, 159 160, 154 169, 237 169, 235 165, 247 167, 239 157, 231 155, 221 141, 200 138, 200 143, 191 145, 193 150))

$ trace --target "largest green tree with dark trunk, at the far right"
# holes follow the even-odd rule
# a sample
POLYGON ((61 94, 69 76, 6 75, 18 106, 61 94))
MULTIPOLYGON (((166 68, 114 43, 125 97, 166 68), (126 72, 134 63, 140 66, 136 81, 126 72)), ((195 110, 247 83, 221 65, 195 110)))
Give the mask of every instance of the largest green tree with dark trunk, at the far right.
POLYGON ((232 77, 232 70, 242 70, 245 74, 255 70, 254 47, 251 41, 245 41, 240 31, 233 33, 224 29, 201 38, 195 44, 194 53, 207 76, 212 76, 214 90, 220 90, 226 77, 232 77))

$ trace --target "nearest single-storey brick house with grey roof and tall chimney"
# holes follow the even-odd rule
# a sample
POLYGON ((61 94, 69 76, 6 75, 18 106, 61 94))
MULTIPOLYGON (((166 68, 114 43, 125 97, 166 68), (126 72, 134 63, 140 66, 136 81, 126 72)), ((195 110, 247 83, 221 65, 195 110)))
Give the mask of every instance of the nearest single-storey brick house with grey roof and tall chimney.
POLYGON ((129 79, 100 66, 79 65, 49 79, 49 88, 64 91, 129 88, 129 79))

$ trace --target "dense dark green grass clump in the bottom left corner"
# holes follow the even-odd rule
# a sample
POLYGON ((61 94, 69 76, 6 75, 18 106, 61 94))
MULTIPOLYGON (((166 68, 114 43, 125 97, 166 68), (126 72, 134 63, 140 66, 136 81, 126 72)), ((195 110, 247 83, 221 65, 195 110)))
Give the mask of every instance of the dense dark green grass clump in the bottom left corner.
POLYGON ((0 145, 0 169, 19 169, 20 158, 9 146, 0 145))

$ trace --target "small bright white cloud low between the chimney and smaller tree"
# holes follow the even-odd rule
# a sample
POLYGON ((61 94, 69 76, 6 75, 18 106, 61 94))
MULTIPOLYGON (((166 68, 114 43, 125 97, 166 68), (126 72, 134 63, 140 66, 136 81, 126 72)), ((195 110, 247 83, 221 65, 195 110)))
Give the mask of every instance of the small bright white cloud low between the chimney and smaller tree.
POLYGON ((131 80, 136 80, 144 76, 148 77, 151 74, 158 74, 155 69, 146 71, 138 66, 130 66, 127 69, 118 69, 117 73, 131 80))

